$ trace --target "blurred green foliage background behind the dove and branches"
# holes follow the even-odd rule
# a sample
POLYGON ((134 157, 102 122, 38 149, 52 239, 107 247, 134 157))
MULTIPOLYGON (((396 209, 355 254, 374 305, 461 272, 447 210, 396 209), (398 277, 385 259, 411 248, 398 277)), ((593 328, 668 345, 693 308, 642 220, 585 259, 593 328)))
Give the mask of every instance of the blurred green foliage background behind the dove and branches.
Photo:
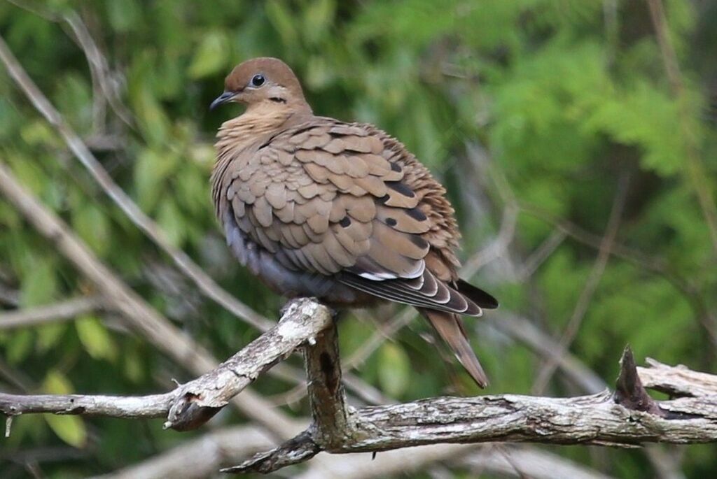
MULTIPOLYGON (((599 392, 626 344, 638 364, 715 372, 716 32, 708 0, 3 0, 9 51, 166 244, 105 194, 6 56, 0 162, 118 279, 224 359, 259 331, 189 279, 172 248, 277 317, 282 299, 229 256, 209 196, 214 134, 241 107, 208 105, 234 64, 280 57, 318 115, 378 125, 446 185, 462 276, 501 302, 467 321, 485 392, 599 392)), ((0 309, 0 390, 138 395, 197 375, 166 354, 172 344, 133 332, 1 196, 0 309)), ((353 404, 483 393, 414 316, 389 305, 342 320, 353 404)), ((254 387, 286 424, 307 421, 302 368, 295 355, 254 387)), ((232 407, 195 432, 161 424, 18 417, 0 439, 0 475, 205 477, 276 440, 232 407), (161 462, 172 457, 191 462, 172 470, 161 462)), ((541 461, 554 477, 717 475, 713 445, 447 451, 381 453, 373 473, 369 455, 332 459, 362 478, 550 477, 541 461)), ((313 464, 277 476, 332 477, 313 464)))

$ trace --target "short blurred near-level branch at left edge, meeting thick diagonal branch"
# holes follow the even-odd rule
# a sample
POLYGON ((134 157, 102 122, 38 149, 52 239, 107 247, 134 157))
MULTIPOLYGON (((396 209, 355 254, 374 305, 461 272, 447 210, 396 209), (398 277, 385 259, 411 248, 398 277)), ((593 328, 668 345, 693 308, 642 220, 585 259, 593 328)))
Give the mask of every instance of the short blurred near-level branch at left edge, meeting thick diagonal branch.
POLYGON ((0 331, 3 329, 27 328, 56 321, 73 319, 103 307, 102 296, 67 299, 47 306, 20 309, 0 313, 0 331))

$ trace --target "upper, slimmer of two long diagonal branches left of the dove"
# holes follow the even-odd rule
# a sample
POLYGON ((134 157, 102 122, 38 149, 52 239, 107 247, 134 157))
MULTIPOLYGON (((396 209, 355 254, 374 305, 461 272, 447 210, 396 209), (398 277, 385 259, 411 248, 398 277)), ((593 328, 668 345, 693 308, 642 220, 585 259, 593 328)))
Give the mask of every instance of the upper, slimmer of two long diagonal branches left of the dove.
POLYGON ((0 60, 5 64, 10 76, 22 89, 28 100, 39 111, 43 117, 60 134, 67 146, 72 150, 77 160, 87 168, 92 178, 100 185, 107 195, 125 213, 126 216, 138 228, 143 231, 156 245, 161 248, 176 266, 188 276, 203 294, 210 299, 217 301, 235 316, 244 319, 248 324, 255 326, 260 331, 266 331, 272 326, 272 322, 257 314, 249 306, 234 298, 229 292, 222 289, 214 279, 206 274, 189 256, 181 249, 173 246, 161 229, 147 216, 136 203, 120 188, 112 177, 103 168, 102 164, 92 155, 82 139, 75 133, 70 125, 63 120, 62 115, 47 100, 42 91, 37 87, 22 65, 17 61, 4 39, 0 37, 0 60))

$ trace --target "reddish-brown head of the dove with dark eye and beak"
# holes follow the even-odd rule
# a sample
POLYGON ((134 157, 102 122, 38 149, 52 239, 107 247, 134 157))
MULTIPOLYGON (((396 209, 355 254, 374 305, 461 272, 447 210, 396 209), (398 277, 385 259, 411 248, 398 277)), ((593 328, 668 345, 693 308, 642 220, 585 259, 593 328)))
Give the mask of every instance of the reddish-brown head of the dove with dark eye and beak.
POLYGON ((238 64, 224 80, 224 92, 210 110, 227 102, 267 107, 308 107, 301 84, 280 59, 260 57, 238 64))

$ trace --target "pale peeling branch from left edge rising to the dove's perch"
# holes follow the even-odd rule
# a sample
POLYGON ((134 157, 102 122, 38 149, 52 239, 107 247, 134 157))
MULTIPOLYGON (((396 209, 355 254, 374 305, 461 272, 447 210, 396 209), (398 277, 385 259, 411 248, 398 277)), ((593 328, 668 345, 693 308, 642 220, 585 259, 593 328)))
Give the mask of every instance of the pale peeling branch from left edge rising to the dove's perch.
POLYGON ((12 417, 35 412, 167 417, 165 427, 196 429, 213 417, 262 372, 288 356, 331 324, 326 306, 301 299, 289 304, 282 319, 216 369, 163 395, 8 395, 0 393, 0 412, 12 417))

